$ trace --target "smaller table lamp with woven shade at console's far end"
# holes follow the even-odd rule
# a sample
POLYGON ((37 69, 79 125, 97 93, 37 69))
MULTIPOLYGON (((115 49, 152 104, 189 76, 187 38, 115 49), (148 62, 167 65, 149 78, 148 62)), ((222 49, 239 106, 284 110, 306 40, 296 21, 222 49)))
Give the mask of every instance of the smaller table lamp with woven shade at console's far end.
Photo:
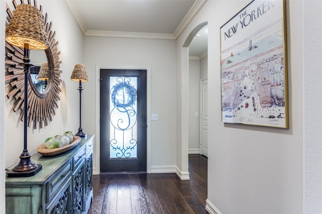
POLYGON ((79 137, 87 137, 87 134, 83 132, 82 129, 82 82, 88 81, 88 76, 86 73, 85 65, 83 64, 76 64, 74 70, 72 71, 70 79, 72 81, 79 81, 79 128, 76 136, 79 137))

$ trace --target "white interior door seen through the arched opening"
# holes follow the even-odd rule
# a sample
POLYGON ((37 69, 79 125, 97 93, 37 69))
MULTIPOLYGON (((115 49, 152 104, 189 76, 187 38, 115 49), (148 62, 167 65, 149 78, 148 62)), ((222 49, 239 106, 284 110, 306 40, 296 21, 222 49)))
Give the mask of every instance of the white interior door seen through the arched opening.
POLYGON ((200 151, 208 157, 208 79, 200 84, 200 151))

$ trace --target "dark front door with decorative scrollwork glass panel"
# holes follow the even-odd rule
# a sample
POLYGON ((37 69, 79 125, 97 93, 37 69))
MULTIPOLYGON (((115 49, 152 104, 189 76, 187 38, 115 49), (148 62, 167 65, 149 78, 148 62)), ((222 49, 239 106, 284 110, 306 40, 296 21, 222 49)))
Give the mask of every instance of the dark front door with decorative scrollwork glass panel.
POLYGON ((101 172, 146 172, 146 70, 100 71, 101 172))

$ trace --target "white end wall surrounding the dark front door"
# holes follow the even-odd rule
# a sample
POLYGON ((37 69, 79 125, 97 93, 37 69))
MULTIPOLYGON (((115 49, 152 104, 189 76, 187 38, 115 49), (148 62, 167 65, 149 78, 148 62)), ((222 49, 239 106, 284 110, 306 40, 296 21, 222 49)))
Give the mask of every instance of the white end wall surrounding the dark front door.
MULTIPOLYGON (((84 111, 83 129, 95 133, 99 118, 95 118, 95 88, 98 81, 96 66, 149 66, 151 68, 151 113, 158 114, 157 121, 151 121, 147 131, 151 134, 150 170, 163 170, 176 166, 176 55, 175 41, 116 39, 85 37, 85 66, 89 82, 83 85, 84 111), (154 168, 153 168, 154 167, 154 168), (158 168, 158 169, 157 169, 158 168)), ((82 97, 83 99, 83 97, 82 97)), ((151 115, 147 115, 148 120, 151 115)), ((82 118, 83 120, 83 118, 82 118)), ((98 139, 98 137, 97 137, 98 139)), ((94 153, 99 155, 97 140, 94 153)), ((96 156, 97 157, 97 156, 96 156)), ((94 167, 99 172, 99 162, 94 167)), ((149 169, 148 169, 149 170, 149 169)))

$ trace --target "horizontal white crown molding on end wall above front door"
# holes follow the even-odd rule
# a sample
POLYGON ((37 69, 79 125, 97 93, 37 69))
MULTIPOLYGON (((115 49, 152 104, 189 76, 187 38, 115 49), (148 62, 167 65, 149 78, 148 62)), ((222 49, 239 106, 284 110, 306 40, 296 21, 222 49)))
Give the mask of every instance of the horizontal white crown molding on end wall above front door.
POLYGON ((154 40, 176 40, 173 34, 155 34, 139 32, 120 32, 120 31, 92 31, 88 30, 86 37, 110 37, 110 38, 131 38, 131 39, 154 39, 154 40))

